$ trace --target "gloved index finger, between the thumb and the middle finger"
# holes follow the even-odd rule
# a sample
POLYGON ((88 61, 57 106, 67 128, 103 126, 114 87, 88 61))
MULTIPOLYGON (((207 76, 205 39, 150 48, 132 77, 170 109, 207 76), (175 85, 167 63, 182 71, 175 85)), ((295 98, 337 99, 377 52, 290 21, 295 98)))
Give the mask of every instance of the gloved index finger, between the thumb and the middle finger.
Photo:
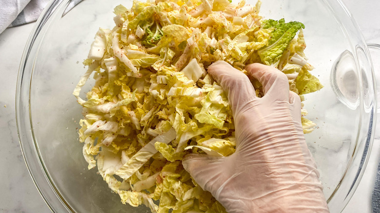
POLYGON ((239 112, 239 106, 245 106, 250 100, 256 98, 255 89, 247 75, 227 62, 214 62, 209 66, 208 72, 228 93, 228 100, 233 112, 239 112))

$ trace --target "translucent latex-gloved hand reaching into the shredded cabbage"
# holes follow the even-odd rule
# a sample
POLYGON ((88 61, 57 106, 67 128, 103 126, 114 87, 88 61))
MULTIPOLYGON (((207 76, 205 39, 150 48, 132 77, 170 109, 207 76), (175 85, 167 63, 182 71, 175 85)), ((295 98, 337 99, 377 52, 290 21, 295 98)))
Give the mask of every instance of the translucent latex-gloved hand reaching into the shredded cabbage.
POLYGON ((208 72, 228 92, 236 152, 225 158, 190 154, 184 168, 228 213, 327 213, 315 162, 304 139, 301 100, 284 73, 246 67, 264 88, 256 97, 248 77, 224 61, 208 72))

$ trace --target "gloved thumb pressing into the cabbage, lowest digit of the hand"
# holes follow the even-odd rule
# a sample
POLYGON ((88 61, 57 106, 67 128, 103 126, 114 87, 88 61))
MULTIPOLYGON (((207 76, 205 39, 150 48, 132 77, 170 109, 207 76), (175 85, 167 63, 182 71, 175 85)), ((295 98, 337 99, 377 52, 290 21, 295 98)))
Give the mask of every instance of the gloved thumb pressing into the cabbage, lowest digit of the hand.
POLYGON ((223 184, 220 159, 209 155, 189 154, 183 158, 182 165, 203 190, 213 194, 223 184))

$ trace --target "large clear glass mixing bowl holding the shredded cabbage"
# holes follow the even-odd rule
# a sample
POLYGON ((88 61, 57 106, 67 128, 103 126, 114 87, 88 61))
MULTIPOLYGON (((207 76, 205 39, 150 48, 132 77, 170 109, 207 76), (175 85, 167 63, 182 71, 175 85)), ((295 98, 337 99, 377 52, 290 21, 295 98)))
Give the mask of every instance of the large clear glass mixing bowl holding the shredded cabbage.
MULTIPOLYGON (((72 95, 97 29, 112 28, 114 6, 128 8, 133 1, 85 0, 70 11, 69 3, 48 4, 22 56, 16 113, 26 164, 53 212, 150 212, 121 204, 96 169, 87 170, 77 134, 81 106, 72 95)), ((324 88, 305 95, 308 118, 318 124, 305 137, 328 206, 341 212, 359 184, 374 138, 377 93, 367 45, 340 0, 265 0, 261 15, 306 26, 305 53, 324 88)))

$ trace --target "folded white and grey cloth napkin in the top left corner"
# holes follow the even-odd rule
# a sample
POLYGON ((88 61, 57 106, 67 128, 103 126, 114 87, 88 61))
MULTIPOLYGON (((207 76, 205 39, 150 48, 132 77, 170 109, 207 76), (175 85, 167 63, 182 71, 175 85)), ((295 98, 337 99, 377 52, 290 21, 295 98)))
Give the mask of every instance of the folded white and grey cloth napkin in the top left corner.
MULTIPOLYGON (((50 0, 0 0, 0 34, 7 27, 36 21, 50 0)), ((71 0, 66 12, 82 0, 71 0)))

